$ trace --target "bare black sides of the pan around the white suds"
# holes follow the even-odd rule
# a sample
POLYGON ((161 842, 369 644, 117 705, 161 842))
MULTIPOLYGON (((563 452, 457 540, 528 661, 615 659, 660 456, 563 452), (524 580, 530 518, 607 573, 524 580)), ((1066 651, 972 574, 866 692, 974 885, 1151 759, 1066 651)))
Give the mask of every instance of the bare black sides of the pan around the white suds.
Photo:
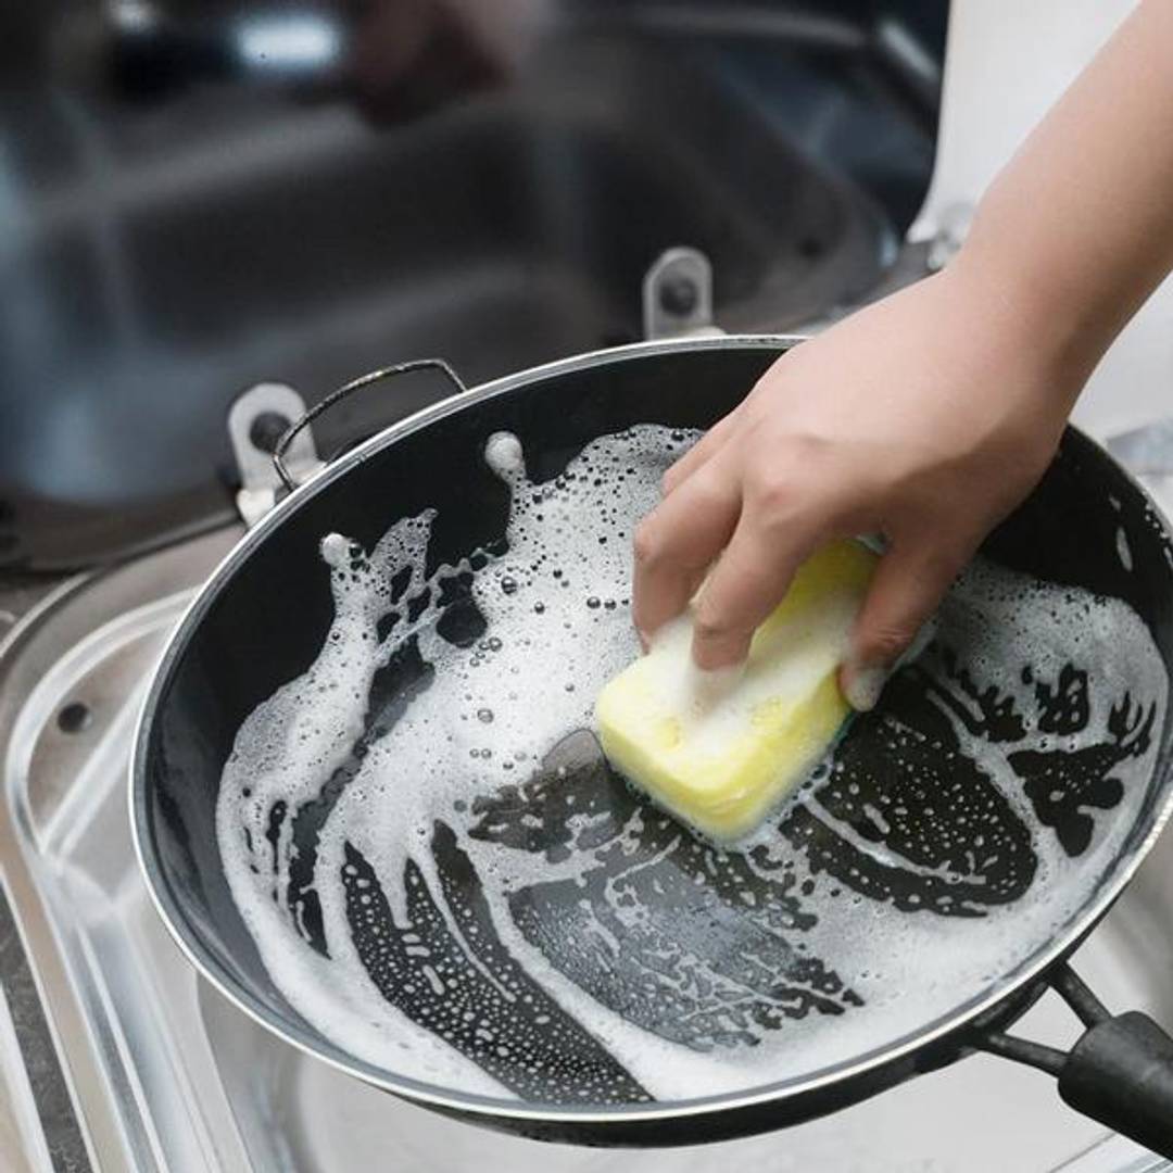
MULTIPOLYGON (((396 517, 438 509, 429 557, 455 560, 502 534, 508 496, 484 466, 486 436, 516 433, 535 480, 554 475, 594 438, 657 421, 703 428, 731 409, 777 354, 761 340, 630 348, 581 364, 503 380, 457 411, 395 429, 297 494, 253 531, 181 625, 156 678, 135 762, 140 852, 157 903, 189 956, 250 1013, 297 1045, 372 1082, 484 1123, 534 1135, 596 1143, 682 1143, 778 1126, 849 1103, 947 1059, 957 1028, 992 1001, 957 1015, 852 1070, 806 1086, 699 1100, 672 1112, 633 1105, 591 1111, 489 1101, 379 1071, 338 1051, 300 1018, 260 963, 225 882, 216 841, 221 772, 244 718, 285 680, 304 672, 326 631, 332 601, 318 564, 324 534, 340 530, 367 547, 396 517), (930 1038, 930 1035, 933 1036, 930 1038), (916 1044, 931 1046, 916 1052, 916 1044), (673 1119, 674 1116, 674 1119, 673 1119)), ((389 393, 394 393, 393 389, 389 393)), ((1173 569, 1168 538, 1140 490, 1098 447, 1074 432, 1029 502, 988 542, 1003 565, 1127 602, 1173 669, 1173 569), (1117 555, 1120 524, 1131 569, 1117 555)), ((1160 714, 1159 761, 1140 816, 1084 916, 1055 942, 1040 942, 997 994, 1013 1006, 1052 955, 1070 948, 1114 895, 1132 857, 1162 815, 1171 757, 1160 714)))

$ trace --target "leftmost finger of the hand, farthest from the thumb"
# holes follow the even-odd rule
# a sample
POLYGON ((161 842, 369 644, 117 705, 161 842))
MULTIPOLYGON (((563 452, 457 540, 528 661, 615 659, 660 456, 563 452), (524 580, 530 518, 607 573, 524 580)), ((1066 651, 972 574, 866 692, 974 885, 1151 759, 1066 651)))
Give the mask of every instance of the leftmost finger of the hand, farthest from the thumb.
POLYGON ((740 511, 738 479, 721 461, 711 460, 640 522, 631 609, 645 646, 687 606, 740 511))

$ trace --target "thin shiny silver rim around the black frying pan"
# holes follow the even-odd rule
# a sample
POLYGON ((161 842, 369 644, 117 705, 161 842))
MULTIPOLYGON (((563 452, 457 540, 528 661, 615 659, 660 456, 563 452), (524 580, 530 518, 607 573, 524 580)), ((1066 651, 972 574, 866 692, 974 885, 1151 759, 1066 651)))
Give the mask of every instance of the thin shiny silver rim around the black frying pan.
MULTIPOLYGON (((300 1037, 289 1022, 273 1013, 259 999, 239 989, 237 984, 223 974, 221 967, 211 958, 201 941, 172 902, 167 877, 157 865, 150 834, 150 816, 147 806, 149 741, 154 728, 154 716, 160 708, 160 700, 165 693, 171 679, 185 653, 198 623, 225 584, 231 581, 237 567, 259 545, 269 531, 282 524, 311 496, 324 490, 337 477, 345 475, 353 467, 369 459, 382 448, 394 443, 420 428, 434 423, 462 407, 503 394, 516 387, 542 379, 615 361, 626 361, 689 351, 707 350, 774 350, 784 352, 804 341, 802 335, 794 334, 721 334, 703 338, 678 338, 645 343, 633 343, 626 346, 589 351, 529 367, 472 387, 462 393, 432 404, 402 420, 384 428, 368 440, 358 445, 348 453, 328 465, 304 484, 294 489, 267 513, 256 526, 249 529, 232 549, 217 564, 211 575, 196 591, 184 609, 178 623, 168 637, 167 645, 154 669, 150 686, 140 706, 131 747, 128 798, 130 806, 131 839, 140 873, 143 875, 147 889, 156 913, 163 921, 168 934, 175 941, 181 952, 195 970, 221 996, 225 997, 238 1010, 255 1023, 272 1032, 283 1042, 296 1047, 304 1055, 326 1063, 337 1071, 345 1072, 366 1084, 391 1092, 402 1099, 428 1107, 439 1108, 462 1116, 480 1117, 486 1120, 524 1121, 536 1127, 565 1125, 571 1127, 608 1127, 622 1128, 629 1125, 647 1125, 679 1119, 697 1119, 707 1116, 735 1113, 753 1110, 771 1104, 796 1101, 822 1089, 847 1086, 869 1074, 879 1074, 897 1066, 902 1060, 940 1044, 950 1036, 956 1036, 983 1018, 996 1013, 999 1008, 1011 1004, 1017 996, 1037 983, 1047 969, 1066 957, 1076 949, 1089 931, 1111 908, 1116 899, 1127 886, 1137 869, 1147 857, 1161 832, 1173 819, 1173 760, 1166 762, 1165 778, 1160 785, 1167 788, 1161 804, 1153 816, 1145 838, 1134 846, 1128 859, 1119 862, 1110 879, 1099 887, 1094 897, 1072 918, 1067 928, 1055 937, 1049 945, 1036 950, 1033 955, 1019 963, 1009 974, 1004 974, 985 994, 978 995, 968 1003, 955 1008, 935 1022, 902 1036, 886 1045, 874 1047, 854 1058, 833 1064, 808 1074, 769 1084, 759 1084, 741 1092, 721 1092, 694 1099, 677 1099, 656 1101, 652 1105, 615 1105, 605 1108, 596 1106, 574 1106, 530 1103, 527 1100, 509 1100, 488 1097, 479 1093, 461 1092, 429 1084, 412 1077, 395 1074, 386 1069, 347 1055, 340 1047, 330 1044, 330 1050, 312 1037, 300 1037)), ((1100 445, 1083 430, 1070 426, 1071 430, 1101 453, 1137 489, 1159 520, 1165 535, 1173 540, 1173 524, 1165 515, 1152 494, 1131 473, 1100 445)), ((1165 723, 1173 719, 1173 707, 1166 710, 1165 723)), ((320 1036, 324 1038, 324 1036, 320 1036)), ((328 1042, 328 1040, 326 1040, 328 1042)), ((866 1094, 866 1093, 865 1093, 866 1094)), ((863 1098, 863 1097, 856 1097, 863 1098)), ((847 1103, 849 1103, 848 1100, 847 1103)), ((816 1113, 812 1113, 816 1114, 816 1113)))

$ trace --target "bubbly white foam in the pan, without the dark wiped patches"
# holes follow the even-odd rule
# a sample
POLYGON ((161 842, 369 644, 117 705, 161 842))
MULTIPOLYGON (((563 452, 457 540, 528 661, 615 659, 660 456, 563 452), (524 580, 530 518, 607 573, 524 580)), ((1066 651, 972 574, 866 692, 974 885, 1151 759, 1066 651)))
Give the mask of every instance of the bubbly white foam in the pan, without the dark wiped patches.
MULTIPOLYGON (((1004 799, 1033 828, 1037 872, 1025 897, 991 904, 975 918, 909 914, 891 900, 845 890, 784 840, 773 821, 741 845, 737 860, 737 867, 767 879, 785 869, 802 922, 801 931, 789 934, 793 949, 833 965, 843 989, 854 991, 862 1005, 843 990, 833 991, 839 999, 834 1015, 806 1015, 777 1030, 751 1023, 745 1045, 725 1042, 701 1051, 635 1025, 584 989, 585 971, 578 974, 574 958, 555 964, 536 947, 533 934, 523 933, 510 915, 510 896, 557 880, 585 883, 598 854, 554 857, 509 850, 469 835, 467 812, 479 798, 524 784, 551 747, 588 727, 598 689, 638 655, 629 615, 630 534, 658 500, 664 469, 694 439, 694 433, 658 426, 632 428, 594 441, 561 476, 536 484, 527 476, 517 439, 507 433, 489 438, 486 459, 513 494, 508 549, 495 555, 467 551, 459 563, 430 576, 425 567, 432 513, 396 522, 369 555, 339 535, 324 538, 333 622, 310 669, 278 689, 240 727, 222 778, 217 834, 233 899, 273 982, 344 1051, 447 1087, 511 1094, 501 1079, 448 1045, 441 1032, 413 1023, 386 1001, 347 925, 355 884, 369 883, 355 879, 348 852, 361 853, 373 869, 399 924, 419 915, 411 910, 409 886, 399 879, 405 868, 414 868, 428 890, 442 889, 443 877, 428 849, 438 819, 453 828, 479 873, 491 928, 528 978, 552 1006, 586 1024, 659 1099, 744 1090, 815 1071, 923 1026, 961 998, 982 992, 1057 931, 1119 848, 1140 801, 1155 739, 1118 766, 1116 777, 1125 781, 1121 801, 1110 812, 1091 812, 1092 842, 1071 857, 1051 830, 1039 827, 1023 787, 1006 785, 1005 746, 976 734, 963 714, 945 708, 960 752, 997 780, 1004 799), (467 646, 448 642, 436 629, 445 584, 459 581, 486 619, 483 632, 467 646), (420 672, 405 686, 389 732, 372 735, 367 708, 377 673, 407 647, 415 649, 420 672), (359 741, 364 748, 355 755, 359 741), (307 944, 312 927, 305 906, 293 900, 290 907, 293 874, 306 862, 299 859, 290 814, 347 771, 348 780, 321 827, 313 867, 325 957, 307 944)), ((312 572, 306 567, 306 574, 312 572)), ((1165 712, 1159 655, 1139 617, 1117 599, 975 564, 947 602, 941 624, 964 647, 975 679, 1006 664, 1016 665, 1016 673, 1029 665, 1029 672, 999 678, 1003 692, 1024 714, 1024 739, 1016 750, 1076 751, 1103 741, 1111 703, 1125 693, 1151 700, 1161 717, 1165 712), (1074 733, 1046 733, 1032 716, 1037 683, 1059 679, 1073 657, 1093 682, 1090 720, 1074 733)), ((972 697, 962 700, 977 705, 972 697)), ((834 781, 838 768, 825 764, 822 777, 834 781)), ((1012 774, 1009 779, 1013 782, 1012 774)), ((917 873, 921 865, 836 819, 819 793, 808 787, 793 802, 832 825, 842 841, 877 866, 917 873)), ((597 816, 574 815, 571 822, 581 827, 591 818, 597 816)), ((882 827, 890 812, 873 806, 868 818, 882 827)), ((679 836, 687 835, 679 830, 672 839, 664 816, 649 808, 632 816, 616 849, 633 852, 639 835, 649 832, 647 820, 660 820, 657 833, 669 836, 665 842, 673 849, 679 836)), ((981 872, 978 862, 975 874, 981 872)), ((733 874, 733 862, 723 855, 713 856, 710 866, 733 874)), ((591 927, 598 942, 618 956, 618 935, 638 931, 646 910, 632 908, 609 883, 610 925, 592 921, 591 927), (606 934, 613 940, 604 941, 606 934)), ((373 893, 362 891, 358 899, 362 896, 373 899, 373 893)), ((467 931, 452 908, 442 900, 435 903, 454 936, 467 931)), ((712 979, 705 931, 699 921, 680 920, 673 972, 712 979)), ((469 974, 468 981, 499 990, 506 1002, 518 996, 513 978, 483 960, 473 958, 469 974)), ((432 970, 427 981, 438 997, 455 990, 450 970, 432 970)), ((508 1050, 503 1021, 487 1012, 477 1029, 508 1050)))

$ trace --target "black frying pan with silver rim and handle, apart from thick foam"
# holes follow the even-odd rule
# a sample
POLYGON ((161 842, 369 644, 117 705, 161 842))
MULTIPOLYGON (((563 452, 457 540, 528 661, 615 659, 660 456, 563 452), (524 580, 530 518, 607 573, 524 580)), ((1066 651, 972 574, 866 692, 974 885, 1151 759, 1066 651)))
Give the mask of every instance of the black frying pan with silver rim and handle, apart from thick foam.
MULTIPOLYGON (((462 1052, 479 1073, 490 1077, 488 1090, 483 1082, 463 1086, 454 1079, 419 1078, 396 1070, 393 1059, 377 1063, 340 1047, 291 1004, 262 962, 225 879, 216 836, 217 796, 242 724, 280 685, 306 671, 330 629, 333 603, 319 560, 323 536, 341 531, 369 550, 398 517, 434 509, 429 564, 455 564, 473 550, 500 549, 508 494, 482 459, 487 436, 516 434, 533 480, 550 481, 597 436, 645 422, 698 429, 712 425, 788 345, 777 337, 640 344, 472 391, 459 388, 453 398, 339 457, 280 501, 201 590, 165 650, 144 704, 131 805, 136 849, 158 911, 203 976, 293 1046, 422 1106, 529 1137, 665 1145, 778 1128, 983 1049, 1057 1076, 1062 1096, 1078 1111, 1173 1155, 1173 1043, 1140 1013, 1110 1016, 1066 964, 1169 815, 1173 732, 1164 699, 1167 689, 1162 686, 1159 697, 1097 691, 1097 682, 1080 674, 1074 649, 1062 679, 1052 685, 1035 680, 1025 693, 1043 706, 1025 725, 1055 732, 1047 750, 1023 740, 1024 723, 1006 720, 1013 717, 1013 704, 977 679, 976 669, 950 659, 950 649, 942 645, 945 636, 940 637, 930 649, 935 659, 903 669, 877 710, 850 726, 836 751, 843 760, 840 772, 812 782, 813 788, 780 812, 768 867, 757 867, 735 849, 719 852, 667 820, 651 818, 608 769, 589 737, 535 746, 547 758, 527 785, 482 796, 475 826, 438 820, 418 847, 430 855, 426 874, 438 879, 415 883, 422 903, 412 914, 414 929, 425 937, 434 934, 425 942, 433 952, 447 950, 453 971, 462 975, 460 998, 448 999, 442 990, 428 995, 427 983, 402 979, 402 967, 409 970, 412 964, 402 937, 413 924, 396 921, 392 906, 409 877, 379 875, 353 857, 352 863, 366 869, 372 890, 382 893, 380 900, 387 897, 381 940, 400 949, 399 979, 375 983, 388 1018, 399 1016, 405 1024, 411 1019, 414 1030, 423 1024, 434 1031, 441 1046, 462 1052), (977 739, 974 744, 994 745, 1003 753, 999 760, 1017 762, 996 786, 992 767, 977 762, 949 732, 943 714, 950 712, 964 719, 977 739), (1092 744, 1084 728, 1090 713, 1101 719, 1092 744), (1145 768, 1138 775, 1140 761, 1145 768), (854 778, 850 786, 838 785, 842 769, 854 778), (929 785, 909 786, 910 771, 929 785), (574 801, 579 813, 589 811, 585 823, 570 816, 574 801), (884 806, 886 819, 875 816, 876 805, 884 806), (975 854, 979 830, 986 846, 997 841, 997 850, 975 854), (536 879, 507 908, 488 909, 482 877, 462 846, 466 835, 479 836, 482 846, 491 841, 502 852, 528 853, 536 862, 536 879), (1105 855, 1097 853, 1096 843, 1107 841, 1106 835, 1113 847, 1105 855), (612 848, 621 839, 626 847, 617 853, 612 848), (1039 843, 1063 861, 1071 884, 1079 880, 1082 893, 1062 916, 1045 923, 1025 911, 1035 889, 1047 882, 1032 847, 1039 843), (592 903, 594 897, 584 899, 581 884, 560 884, 552 870, 547 882, 541 870, 544 861, 575 852, 591 867, 612 868, 604 876, 608 883, 617 880, 615 868, 623 873, 621 879, 629 877, 624 869, 632 860, 640 875, 656 879, 632 890, 632 899, 642 902, 639 923, 645 928, 632 930, 628 940, 612 940, 605 964, 588 945, 597 941, 606 909, 592 903), (793 867, 779 862, 787 853, 793 867), (799 872, 807 876, 801 886, 793 879, 799 872), (733 880, 714 879, 721 875, 733 880), (804 903, 808 894, 811 907, 804 903), (952 1001, 943 1008, 933 1003, 936 1009, 927 1009, 922 1019, 914 1015, 899 1025, 894 1019, 888 1030, 880 1015, 869 1042, 843 1053, 836 1038, 846 1037, 840 1032, 853 1016, 869 1012, 869 1001, 889 1005, 895 992, 906 1009, 915 1008, 923 989, 906 970, 902 981, 910 986, 888 990, 886 1002, 869 992, 873 986, 857 984, 859 975, 836 971, 834 941, 823 956, 804 952, 802 925, 818 921, 823 915, 819 909, 832 897, 882 914, 877 927, 924 930, 928 944, 916 971, 925 979, 948 960, 931 944, 935 925, 955 949, 965 940, 960 934, 984 931, 998 918, 1013 945, 1010 960, 976 983, 960 984, 952 1001), (513 917, 513 928, 544 952, 549 964, 541 974, 526 971, 506 943, 501 917, 513 917), (473 922, 479 933, 467 931, 473 922), (697 924, 710 925, 711 933, 692 933, 697 924), (683 962, 672 950, 676 938, 690 933, 700 955, 691 958, 690 972, 700 972, 704 981, 682 983, 672 964, 683 962), (757 942, 752 975, 745 969, 746 934, 757 942), (650 963, 653 956, 676 961, 657 970, 650 963), (632 977, 636 971, 638 977, 632 977), (515 994, 528 991, 513 998, 511 1009, 494 1006, 495 1013, 507 1016, 506 1033, 523 1040, 507 1058, 462 1032, 450 1012, 457 1005, 475 1008, 477 998, 496 998, 494 983, 482 978, 500 978, 502 972, 515 994), (572 1009, 549 996, 551 974, 563 982, 571 975, 577 982, 584 997, 572 1009), (735 979, 745 995, 732 1010, 713 1002, 713 990, 726 978, 735 979), (626 979, 636 982, 640 996, 630 996, 626 979), (1047 988, 1066 999, 1086 1028, 1071 1052, 1008 1033, 1047 988), (425 1006, 428 997, 432 1002, 425 1006), (533 1017, 535 1005, 544 1010, 543 1017, 533 1017), (655 1036, 662 1053, 678 1052, 682 1059, 706 1051, 730 1055, 734 1062, 743 1051, 785 1059, 785 1047, 778 1050, 778 1044, 814 1023, 818 1038, 827 1042, 827 1058, 818 1060, 816 1047, 816 1060, 800 1071, 787 1070, 781 1060, 777 1069, 759 1063, 745 1069, 740 1086, 713 1091, 698 1085, 687 1094, 657 1096, 650 1086, 655 1080, 640 1079, 611 1049, 610 1036, 596 1031, 591 1008, 597 1008, 598 1022, 608 1015, 625 1017, 636 1033, 655 1036), (535 1056, 542 1063, 531 1062, 535 1056), (557 1072, 558 1078, 543 1072, 557 1072), (493 1090, 497 1086, 500 1092, 493 1090)), ((442 362, 414 365, 438 366, 456 381, 442 362)), ((284 473, 282 450, 277 457, 284 473)), ((1167 679, 1173 669, 1171 550, 1169 530, 1144 491, 1105 452, 1069 429, 1038 489, 991 535, 983 556, 1025 576, 1023 581, 1126 604, 1139 617, 1139 630, 1147 631, 1167 679)), ((1110 631, 1106 638, 1135 639, 1131 630, 1110 631)), ((1012 674, 1016 687, 1031 679, 1017 662, 986 664, 984 671, 986 679, 1012 674)), ((362 698, 357 740, 394 737, 393 723, 379 724, 380 714, 405 703, 394 693, 394 684, 385 682, 362 698)), ((313 800, 318 823, 328 818, 347 777, 344 769, 321 778, 313 800)), ((278 822, 293 814, 272 812, 278 822)), ((312 843, 298 850, 311 873, 303 876, 303 897, 314 884, 337 879, 313 873, 312 843)), ((422 874, 418 872, 416 880, 422 874)), ((354 918, 350 928, 360 943, 364 923, 354 918)), ((877 928, 873 935, 882 938, 883 931, 877 928)), ((312 924, 306 937, 305 948, 312 948, 312 924)), ((419 943, 418 937, 411 941, 419 943)), ((320 955, 328 952, 320 941, 317 944, 320 955)), ((925 999, 924 1005, 930 1003, 925 999)))

